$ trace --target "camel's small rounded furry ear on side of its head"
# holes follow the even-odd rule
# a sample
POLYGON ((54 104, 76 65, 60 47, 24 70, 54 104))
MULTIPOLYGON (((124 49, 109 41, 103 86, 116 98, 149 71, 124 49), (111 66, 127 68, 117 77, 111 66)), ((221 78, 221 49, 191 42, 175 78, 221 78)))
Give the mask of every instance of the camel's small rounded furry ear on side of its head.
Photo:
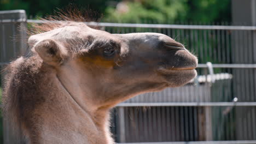
POLYGON ((39 41, 34 46, 34 51, 50 65, 61 65, 68 56, 66 48, 52 39, 39 41))

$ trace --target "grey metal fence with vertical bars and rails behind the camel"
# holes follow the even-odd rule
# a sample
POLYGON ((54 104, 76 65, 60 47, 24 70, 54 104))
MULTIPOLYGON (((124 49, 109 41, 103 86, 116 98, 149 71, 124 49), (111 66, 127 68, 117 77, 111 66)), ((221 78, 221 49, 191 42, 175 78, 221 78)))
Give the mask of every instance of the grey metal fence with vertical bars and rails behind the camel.
MULTIPOLYGON (((18 52, 15 47, 26 39, 23 33, 22 40, 12 40, 16 26, 45 21, 0 19, 2 65, 16 57, 11 53, 18 52)), ((88 25, 110 33, 163 33, 199 58, 199 76, 188 85, 141 94, 112 110, 112 131, 118 143, 256 143, 256 27, 88 25)), ((24 51, 24 46, 17 49, 24 51)))

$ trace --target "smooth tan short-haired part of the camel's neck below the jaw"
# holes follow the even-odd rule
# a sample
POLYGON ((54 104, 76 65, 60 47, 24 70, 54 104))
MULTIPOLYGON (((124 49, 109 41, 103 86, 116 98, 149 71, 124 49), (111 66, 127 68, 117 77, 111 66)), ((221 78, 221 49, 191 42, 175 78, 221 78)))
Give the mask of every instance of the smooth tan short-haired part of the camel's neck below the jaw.
POLYGON ((72 81, 61 81, 64 75, 46 74, 42 86, 43 103, 30 112, 24 123, 24 134, 30 143, 112 144, 108 130, 108 110, 90 108, 90 99, 72 81), (69 83, 68 83, 69 82, 69 83), (71 88, 68 86, 74 86, 71 88), (77 91, 78 93, 75 93, 77 91), (79 94, 79 92, 81 92, 79 94), (87 105, 87 106, 86 106, 87 105))

